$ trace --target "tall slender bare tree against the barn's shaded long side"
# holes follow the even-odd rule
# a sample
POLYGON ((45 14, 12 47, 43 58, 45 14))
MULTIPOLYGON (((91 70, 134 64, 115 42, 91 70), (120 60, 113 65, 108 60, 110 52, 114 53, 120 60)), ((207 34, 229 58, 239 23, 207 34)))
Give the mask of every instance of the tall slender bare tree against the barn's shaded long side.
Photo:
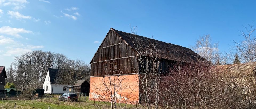
MULTIPOLYGON (((160 79, 161 79, 161 67, 159 48, 154 44, 154 39, 151 40, 139 40, 137 38, 137 29, 131 28, 131 32, 134 36, 133 43, 135 51, 138 53, 138 68, 133 68, 137 73, 139 79, 139 99, 144 108, 158 108, 160 100, 160 79), (147 47, 144 47, 148 45, 147 47)), ((132 61, 131 61, 132 62, 132 61)), ((130 64, 131 67, 134 67, 130 64)))

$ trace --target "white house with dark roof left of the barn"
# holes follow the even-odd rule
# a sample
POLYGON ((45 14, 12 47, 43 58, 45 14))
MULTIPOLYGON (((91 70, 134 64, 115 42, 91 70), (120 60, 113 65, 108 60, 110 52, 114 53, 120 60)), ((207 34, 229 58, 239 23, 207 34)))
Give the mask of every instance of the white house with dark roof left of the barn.
MULTIPOLYGON (((47 93, 47 94, 71 93, 72 89, 70 91, 69 88, 67 88, 68 86, 71 86, 71 85, 60 84, 55 81, 55 78, 57 77, 59 70, 60 69, 48 68, 48 72, 47 72, 47 74, 45 76, 45 80, 43 82, 44 93, 47 93)), ((63 69, 61 69, 61 70, 63 70, 63 69)))

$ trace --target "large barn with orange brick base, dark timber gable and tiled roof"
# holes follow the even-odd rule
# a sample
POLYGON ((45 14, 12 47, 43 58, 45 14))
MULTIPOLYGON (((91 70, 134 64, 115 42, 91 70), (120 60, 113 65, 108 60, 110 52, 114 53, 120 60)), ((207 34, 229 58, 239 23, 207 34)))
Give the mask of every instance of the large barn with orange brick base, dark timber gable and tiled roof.
POLYGON ((168 67, 177 62, 194 63, 198 62, 199 59, 206 61, 189 48, 111 28, 90 62, 89 100, 100 97, 104 98, 106 92, 101 89, 104 89, 104 86, 106 86, 104 81, 108 81, 106 76, 122 76, 125 78, 122 81, 122 85, 127 88, 122 90, 122 93, 117 92, 116 95, 122 99, 129 100, 129 102, 139 101, 139 53, 137 49, 139 46, 139 48, 142 48, 142 52, 146 52, 144 50, 152 44, 150 41, 154 42, 155 48, 159 48, 162 71, 167 70, 168 67), (140 43, 135 43, 135 40, 140 43), (122 69, 122 73, 107 73, 106 69, 110 65, 122 69))

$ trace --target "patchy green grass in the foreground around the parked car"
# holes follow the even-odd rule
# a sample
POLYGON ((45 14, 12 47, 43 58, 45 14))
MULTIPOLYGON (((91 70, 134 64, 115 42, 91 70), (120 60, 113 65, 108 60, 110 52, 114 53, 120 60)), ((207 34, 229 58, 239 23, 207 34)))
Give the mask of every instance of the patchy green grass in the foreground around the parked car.
MULTIPOLYGON (((13 109, 16 103, 16 109, 27 109, 27 108, 40 108, 47 109, 50 106, 51 109, 90 109, 94 108, 94 101, 88 101, 88 97, 81 97, 80 106, 79 102, 63 102, 58 101, 58 96, 55 95, 54 98, 43 98, 36 100, 0 100, 1 109, 13 109)), ((111 108, 110 103, 98 102, 95 101, 95 108, 111 108), (106 107, 107 105, 107 107, 106 107)), ((121 104, 121 107, 124 107, 125 104, 121 104)), ((133 108, 133 105, 127 104, 125 108, 133 108)))

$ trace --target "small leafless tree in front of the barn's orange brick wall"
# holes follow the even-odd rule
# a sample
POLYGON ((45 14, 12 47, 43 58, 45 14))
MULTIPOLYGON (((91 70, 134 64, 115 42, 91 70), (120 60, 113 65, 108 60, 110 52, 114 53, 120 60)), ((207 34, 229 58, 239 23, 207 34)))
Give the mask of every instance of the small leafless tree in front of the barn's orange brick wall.
POLYGON ((112 61, 107 61, 107 64, 104 66, 105 76, 101 77, 101 84, 95 84, 94 89, 94 98, 97 98, 99 103, 98 107, 109 108, 107 102, 111 103, 111 109, 116 108, 125 108, 127 103, 132 103, 129 101, 133 89, 125 81, 125 76, 122 76, 123 73, 122 67, 118 67, 117 63, 112 61), (129 89, 130 94, 123 96, 123 90, 129 89), (121 106, 121 103, 124 103, 124 106, 121 106))

